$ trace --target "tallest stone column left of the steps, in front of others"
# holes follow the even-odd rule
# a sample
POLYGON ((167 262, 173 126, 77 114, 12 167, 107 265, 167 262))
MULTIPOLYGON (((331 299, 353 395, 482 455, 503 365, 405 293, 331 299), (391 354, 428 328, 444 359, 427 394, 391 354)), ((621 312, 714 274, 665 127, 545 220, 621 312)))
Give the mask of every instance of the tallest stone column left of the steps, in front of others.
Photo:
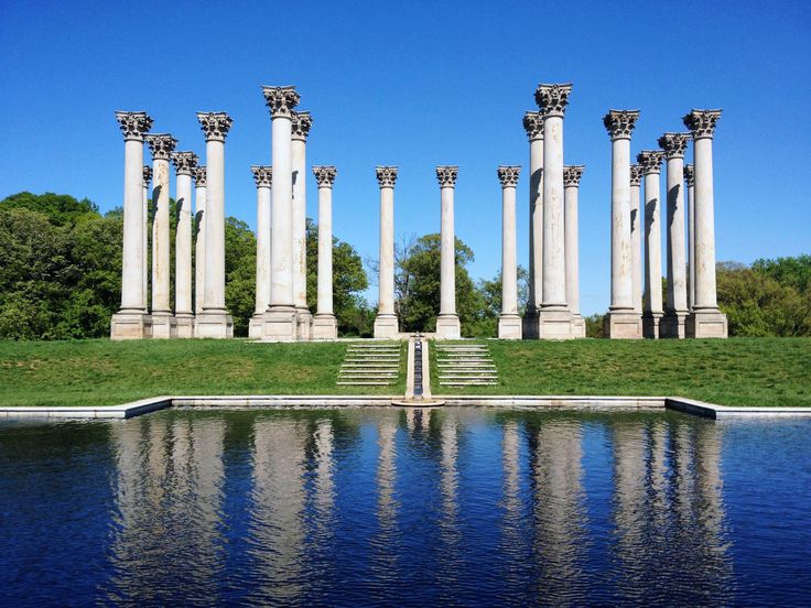
POLYGON ((298 339, 299 316, 293 295, 293 109, 300 96, 295 87, 263 87, 271 117, 273 186, 271 191, 270 306, 264 315, 262 339, 298 339))

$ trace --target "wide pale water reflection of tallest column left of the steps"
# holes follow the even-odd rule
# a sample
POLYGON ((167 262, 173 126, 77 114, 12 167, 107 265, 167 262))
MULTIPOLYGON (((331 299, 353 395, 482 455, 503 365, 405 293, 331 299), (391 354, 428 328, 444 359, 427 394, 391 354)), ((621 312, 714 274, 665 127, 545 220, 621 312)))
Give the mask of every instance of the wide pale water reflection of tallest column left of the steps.
POLYGON ((292 600, 304 530, 304 443, 301 425, 273 416, 253 425, 253 491, 249 540, 258 564, 255 596, 261 602, 292 600))

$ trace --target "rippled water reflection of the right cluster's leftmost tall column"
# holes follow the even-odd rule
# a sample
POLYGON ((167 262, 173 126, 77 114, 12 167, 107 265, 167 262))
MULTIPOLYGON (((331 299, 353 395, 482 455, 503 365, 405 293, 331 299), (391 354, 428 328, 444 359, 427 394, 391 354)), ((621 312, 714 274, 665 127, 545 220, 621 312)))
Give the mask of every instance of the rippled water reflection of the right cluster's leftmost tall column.
MULTIPOLYGON (((613 435, 615 551, 623 563, 620 585, 635 587, 641 584, 645 568, 640 564, 647 551, 646 430, 640 422, 619 420, 613 435)), ((661 457, 663 462, 663 453, 655 455, 652 459, 661 457)), ((656 471, 656 464, 653 469, 656 471)))

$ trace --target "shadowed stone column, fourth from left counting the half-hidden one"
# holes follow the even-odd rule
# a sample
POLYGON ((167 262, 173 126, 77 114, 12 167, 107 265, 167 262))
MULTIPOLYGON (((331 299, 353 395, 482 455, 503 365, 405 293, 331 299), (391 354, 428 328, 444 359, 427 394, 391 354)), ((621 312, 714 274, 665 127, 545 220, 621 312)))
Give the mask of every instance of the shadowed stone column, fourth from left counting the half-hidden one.
POLYGON ((194 337, 194 313, 192 308, 192 173, 197 166, 194 152, 172 153, 177 176, 175 197, 177 228, 174 246, 174 317, 177 337, 194 337))

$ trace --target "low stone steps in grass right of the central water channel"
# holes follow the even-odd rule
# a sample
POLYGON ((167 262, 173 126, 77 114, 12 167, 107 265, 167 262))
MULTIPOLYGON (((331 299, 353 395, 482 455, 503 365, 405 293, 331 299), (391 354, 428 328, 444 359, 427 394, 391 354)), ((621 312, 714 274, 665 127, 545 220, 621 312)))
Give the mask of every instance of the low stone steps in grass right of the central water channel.
POLYGON ((487 345, 434 343, 441 387, 490 387, 498 384, 498 371, 487 345))

